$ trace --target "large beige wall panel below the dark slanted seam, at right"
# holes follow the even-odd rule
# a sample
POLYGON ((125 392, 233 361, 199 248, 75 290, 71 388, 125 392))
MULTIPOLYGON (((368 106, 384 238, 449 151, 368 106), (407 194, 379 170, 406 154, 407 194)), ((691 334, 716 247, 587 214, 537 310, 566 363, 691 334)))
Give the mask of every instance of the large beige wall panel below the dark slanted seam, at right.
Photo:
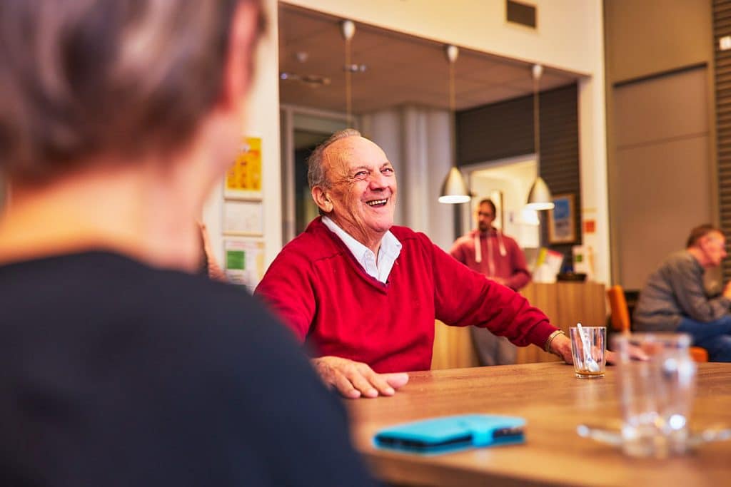
POLYGON ((711 221, 705 74, 698 68, 615 89, 614 229, 626 288, 642 288, 667 254, 683 248, 689 229, 711 221))

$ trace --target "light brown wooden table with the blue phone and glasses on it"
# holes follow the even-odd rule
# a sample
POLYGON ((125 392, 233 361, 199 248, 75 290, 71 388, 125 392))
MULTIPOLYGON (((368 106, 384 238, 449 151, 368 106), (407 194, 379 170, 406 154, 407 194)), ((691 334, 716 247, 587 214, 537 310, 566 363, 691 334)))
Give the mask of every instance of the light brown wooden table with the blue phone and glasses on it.
MULTIPOLYGON (((699 364, 691 424, 731 426, 731 364, 699 364)), ((574 377, 559 363, 413 372, 393 397, 346 401, 356 448, 387 483, 422 486, 722 486, 731 483, 731 442, 689 456, 632 459, 578 437, 579 423, 618 421, 616 369, 574 377), (440 456, 377 450, 385 426, 462 413, 523 416, 526 443, 440 456)))

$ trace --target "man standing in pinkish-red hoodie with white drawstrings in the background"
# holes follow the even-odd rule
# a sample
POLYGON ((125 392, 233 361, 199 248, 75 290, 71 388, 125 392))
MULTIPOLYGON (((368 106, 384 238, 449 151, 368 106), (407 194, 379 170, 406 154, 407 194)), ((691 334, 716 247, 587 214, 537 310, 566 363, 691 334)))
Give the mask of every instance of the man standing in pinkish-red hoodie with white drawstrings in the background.
MULTIPOLYGON (((475 210, 477 228, 458 238, 450 254, 470 269, 518 291, 531 282, 526 256, 515 239, 493 226, 496 208, 489 198, 480 200, 475 210)), ((470 327, 470 334, 480 365, 515 364, 518 349, 505 337, 490 330, 470 327)))

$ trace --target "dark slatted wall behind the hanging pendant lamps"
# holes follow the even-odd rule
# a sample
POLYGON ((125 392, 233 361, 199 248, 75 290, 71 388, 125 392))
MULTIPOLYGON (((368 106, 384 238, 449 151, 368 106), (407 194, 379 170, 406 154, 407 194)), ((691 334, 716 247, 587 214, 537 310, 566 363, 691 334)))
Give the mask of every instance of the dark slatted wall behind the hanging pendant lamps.
MULTIPOLYGON (((539 95, 540 172, 554 194, 576 195, 576 234, 581 243, 581 189, 577 85, 539 95)), ((534 152, 533 97, 521 98, 457 112, 458 165, 493 161, 534 152)), ((543 241, 548 242, 543 226, 543 241)), ((571 255, 572 245, 550 245, 571 255)))

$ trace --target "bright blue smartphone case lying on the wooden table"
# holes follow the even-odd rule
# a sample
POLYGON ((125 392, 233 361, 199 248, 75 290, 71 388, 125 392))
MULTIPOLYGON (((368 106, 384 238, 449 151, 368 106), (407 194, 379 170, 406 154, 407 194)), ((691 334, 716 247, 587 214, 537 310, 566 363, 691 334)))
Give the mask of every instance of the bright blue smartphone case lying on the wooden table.
POLYGON ((403 423, 376 432, 379 448, 412 453, 445 453, 525 442, 526 420, 502 415, 455 415, 403 423))

